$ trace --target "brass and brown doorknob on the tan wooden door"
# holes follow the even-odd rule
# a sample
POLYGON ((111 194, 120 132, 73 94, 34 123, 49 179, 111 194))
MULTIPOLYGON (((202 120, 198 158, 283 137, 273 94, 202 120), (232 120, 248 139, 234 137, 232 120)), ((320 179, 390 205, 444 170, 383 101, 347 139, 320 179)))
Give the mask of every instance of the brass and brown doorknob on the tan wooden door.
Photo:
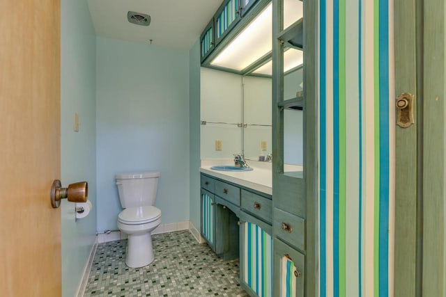
POLYGON ((86 202, 89 196, 89 184, 87 182, 76 182, 68 185, 68 188, 62 188, 61 181, 54 179, 50 196, 53 208, 58 208, 61 204, 61 199, 64 198, 67 198, 70 202, 86 202))

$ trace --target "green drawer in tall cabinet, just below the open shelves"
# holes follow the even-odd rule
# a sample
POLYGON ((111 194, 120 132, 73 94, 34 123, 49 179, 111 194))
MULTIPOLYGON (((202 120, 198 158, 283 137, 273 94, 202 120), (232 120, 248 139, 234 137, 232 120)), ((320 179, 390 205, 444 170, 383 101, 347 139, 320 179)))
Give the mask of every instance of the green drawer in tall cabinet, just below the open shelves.
POLYGON ((280 209, 274 209, 272 232, 291 246, 305 250, 305 220, 280 209))

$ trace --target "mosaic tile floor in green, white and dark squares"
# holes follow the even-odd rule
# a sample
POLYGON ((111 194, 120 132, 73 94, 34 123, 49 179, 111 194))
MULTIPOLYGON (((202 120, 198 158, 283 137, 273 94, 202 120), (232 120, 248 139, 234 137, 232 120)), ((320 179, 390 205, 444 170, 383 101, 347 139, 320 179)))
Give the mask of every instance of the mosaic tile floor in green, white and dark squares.
POLYGON ((84 296, 248 296, 238 282, 238 260, 224 261, 188 231, 152 236, 155 260, 125 266, 127 240, 101 243, 84 296))

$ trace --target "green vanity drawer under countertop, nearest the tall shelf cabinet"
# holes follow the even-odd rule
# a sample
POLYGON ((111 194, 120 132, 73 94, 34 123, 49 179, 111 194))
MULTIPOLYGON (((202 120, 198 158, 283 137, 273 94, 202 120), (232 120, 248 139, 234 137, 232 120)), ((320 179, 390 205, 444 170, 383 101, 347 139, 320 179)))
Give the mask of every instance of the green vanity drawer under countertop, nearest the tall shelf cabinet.
POLYGON ((242 190, 242 208, 254 216, 272 223, 272 201, 261 195, 242 190))

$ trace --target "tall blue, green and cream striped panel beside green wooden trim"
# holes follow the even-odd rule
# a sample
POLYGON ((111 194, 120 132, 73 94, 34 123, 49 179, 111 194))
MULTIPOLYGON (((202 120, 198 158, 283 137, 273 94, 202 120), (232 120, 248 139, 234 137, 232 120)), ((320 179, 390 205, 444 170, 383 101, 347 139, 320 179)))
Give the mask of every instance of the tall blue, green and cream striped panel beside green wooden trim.
POLYGON ((319 1, 320 295, 392 296, 392 0, 319 1))

